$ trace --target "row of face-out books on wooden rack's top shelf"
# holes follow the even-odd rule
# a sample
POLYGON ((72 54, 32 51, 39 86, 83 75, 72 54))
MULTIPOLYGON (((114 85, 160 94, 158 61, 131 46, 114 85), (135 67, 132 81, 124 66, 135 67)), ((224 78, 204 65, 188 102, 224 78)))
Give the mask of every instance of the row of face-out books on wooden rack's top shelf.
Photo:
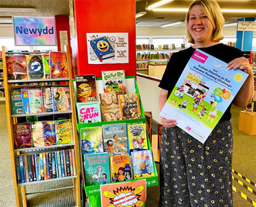
POLYGON ((43 55, 10 55, 6 57, 8 80, 67 78, 65 52, 43 55))

